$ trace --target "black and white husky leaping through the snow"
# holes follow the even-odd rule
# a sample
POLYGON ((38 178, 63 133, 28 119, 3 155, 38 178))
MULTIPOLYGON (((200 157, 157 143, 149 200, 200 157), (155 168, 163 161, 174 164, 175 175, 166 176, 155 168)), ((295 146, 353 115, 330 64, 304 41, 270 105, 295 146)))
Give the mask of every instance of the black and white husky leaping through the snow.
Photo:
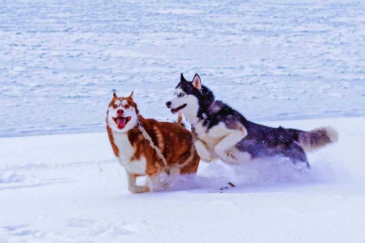
POLYGON ((217 158, 227 163, 247 162, 255 158, 283 156, 293 163, 308 164, 304 151, 337 142, 331 127, 300 131, 272 128, 248 121, 240 112, 221 101, 201 84, 198 74, 187 81, 181 74, 174 98, 166 103, 171 112, 183 113, 195 130, 196 150, 205 162, 217 158))

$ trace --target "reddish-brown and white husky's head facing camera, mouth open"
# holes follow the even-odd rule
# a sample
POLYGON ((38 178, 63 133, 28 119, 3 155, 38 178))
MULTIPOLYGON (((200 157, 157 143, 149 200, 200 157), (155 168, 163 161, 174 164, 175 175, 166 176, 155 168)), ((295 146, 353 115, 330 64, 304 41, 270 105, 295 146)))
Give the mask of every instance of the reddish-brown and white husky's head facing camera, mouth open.
POLYGON ((117 97, 115 92, 108 108, 107 123, 111 130, 126 133, 134 128, 138 119, 138 107, 133 101, 133 92, 128 97, 117 97))

